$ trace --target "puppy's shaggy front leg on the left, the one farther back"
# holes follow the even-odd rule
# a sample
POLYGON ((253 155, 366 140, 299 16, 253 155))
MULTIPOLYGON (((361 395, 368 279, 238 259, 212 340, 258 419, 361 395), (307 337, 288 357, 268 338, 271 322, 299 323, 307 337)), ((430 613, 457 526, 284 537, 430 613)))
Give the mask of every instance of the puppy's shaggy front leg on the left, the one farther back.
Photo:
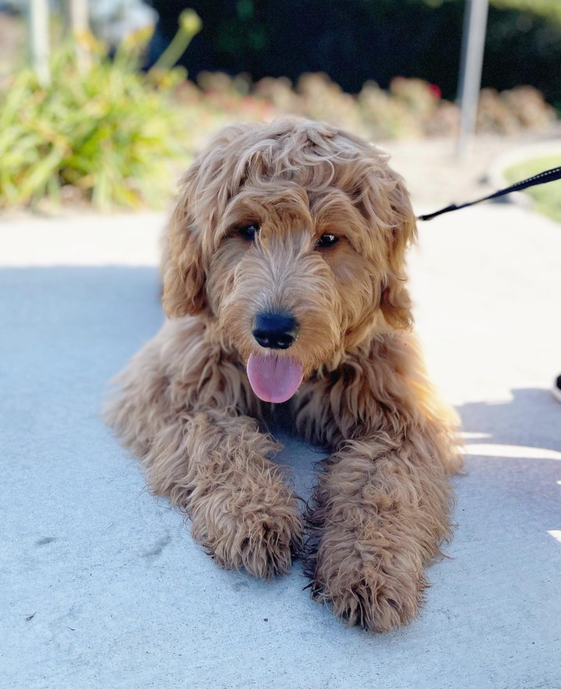
POLYGON ((277 449, 252 418, 209 410, 160 430, 143 463, 222 567, 269 578, 288 572, 302 541, 297 497, 269 460, 277 449))

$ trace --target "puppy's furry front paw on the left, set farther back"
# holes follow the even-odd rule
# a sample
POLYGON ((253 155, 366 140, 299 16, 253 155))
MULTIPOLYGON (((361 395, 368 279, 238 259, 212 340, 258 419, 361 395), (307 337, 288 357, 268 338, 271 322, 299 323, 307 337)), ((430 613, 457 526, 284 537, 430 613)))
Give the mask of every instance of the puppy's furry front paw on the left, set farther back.
POLYGON ((302 546, 296 498, 288 491, 272 501, 267 500, 271 496, 248 497, 215 495, 206 501, 205 510, 193 509, 193 536, 225 569, 244 567, 259 579, 285 574, 302 546))

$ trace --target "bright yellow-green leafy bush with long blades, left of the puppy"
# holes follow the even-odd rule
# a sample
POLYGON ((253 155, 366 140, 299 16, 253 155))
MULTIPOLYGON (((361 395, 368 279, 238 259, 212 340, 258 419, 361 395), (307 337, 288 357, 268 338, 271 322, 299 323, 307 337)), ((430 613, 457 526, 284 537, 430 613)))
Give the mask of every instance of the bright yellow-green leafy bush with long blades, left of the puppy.
POLYGON ((169 193, 169 160, 185 152, 169 96, 183 74, 146 77, 136 46, 92 58, 81 73, 65 46, 46 89, 30 70, 1 85, 1 206, 56 202, 68 188, 101 210, 160 205, 169 193))

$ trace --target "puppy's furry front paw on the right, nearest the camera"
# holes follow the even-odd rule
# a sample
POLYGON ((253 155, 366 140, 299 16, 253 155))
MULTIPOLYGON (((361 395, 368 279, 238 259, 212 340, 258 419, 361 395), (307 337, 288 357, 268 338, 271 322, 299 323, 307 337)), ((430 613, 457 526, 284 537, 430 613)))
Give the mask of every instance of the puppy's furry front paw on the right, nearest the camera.
POLYGON ((389 631, 408 624, 423 599, 423 570, 411 568, 399 550, 372 541, 356 541, 347 532, 318 544, 311 592, 337 617, 368 631, 389 631))

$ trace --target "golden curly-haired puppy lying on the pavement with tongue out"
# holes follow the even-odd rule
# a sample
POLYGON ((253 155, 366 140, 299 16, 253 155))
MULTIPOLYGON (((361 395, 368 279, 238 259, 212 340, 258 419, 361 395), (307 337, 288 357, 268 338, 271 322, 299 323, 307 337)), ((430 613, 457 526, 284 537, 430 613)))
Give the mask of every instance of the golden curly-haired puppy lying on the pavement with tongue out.
POLYGON ((169 320, 107 410, 220 565, 272 577, 302 553, 314 598, 375 631, 415 616, 460 466, 411 333, 414 237, 404 183, 368 143, 316 122, 228 127, 183 180, 169 320), (265 430, 280 403, 332 451, 305 517, 265 430))

